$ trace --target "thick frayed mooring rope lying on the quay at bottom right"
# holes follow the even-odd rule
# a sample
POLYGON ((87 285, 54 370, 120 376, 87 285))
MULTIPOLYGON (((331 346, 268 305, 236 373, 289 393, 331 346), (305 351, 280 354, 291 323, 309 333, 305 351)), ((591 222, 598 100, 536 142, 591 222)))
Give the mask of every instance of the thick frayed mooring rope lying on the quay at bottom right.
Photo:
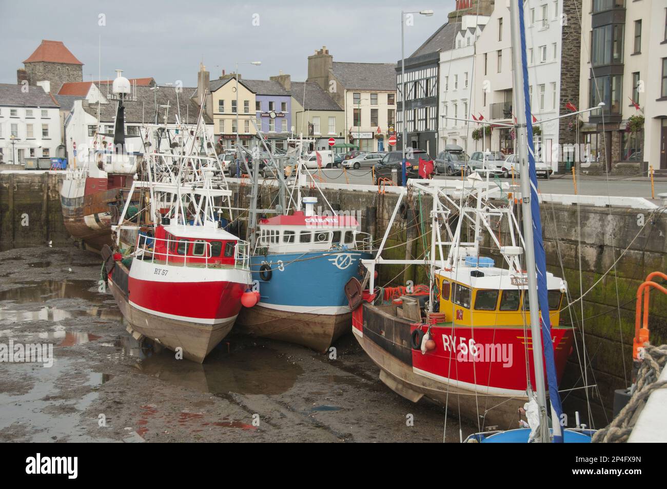
POLYGON ((618 413, 609 426, 593 436, 594 443, 624 443, 628 441, 639 414, 646 406, 650 394, 667 388, 667 380, 658 380, 667 364, 667 345, 644 348, 644 360, 637 373, 637 382, 628 404, 618 413))

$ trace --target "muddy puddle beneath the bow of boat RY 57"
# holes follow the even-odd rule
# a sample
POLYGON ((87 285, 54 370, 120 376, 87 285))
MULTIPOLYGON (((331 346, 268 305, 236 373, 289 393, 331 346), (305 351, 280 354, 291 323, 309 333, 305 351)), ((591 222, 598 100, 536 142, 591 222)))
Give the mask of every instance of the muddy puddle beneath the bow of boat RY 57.
POLYGON ((289 362, 276 350, 262 346, 243 346, 223 342, 209 354, 203 364, 176 360, 173 352, 137 342, 122 336, 117 342, 115 358, 131 356, 135 367, 144 374, 177 386, 211 394, 282 394, 303 374, 303 369, 289 362), (227 351, 229 350, 229 353, 227 351))

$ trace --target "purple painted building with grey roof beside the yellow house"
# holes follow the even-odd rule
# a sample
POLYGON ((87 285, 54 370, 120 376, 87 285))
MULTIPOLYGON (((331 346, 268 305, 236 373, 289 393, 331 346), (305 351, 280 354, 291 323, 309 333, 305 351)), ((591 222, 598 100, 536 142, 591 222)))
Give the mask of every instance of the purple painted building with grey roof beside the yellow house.
POLYGON ((243 83, 255 92, 257 127, 269 140, 271 149, 285 149, 284 140, 291 135, 291 95, 275 80, 248 80, 243 83))

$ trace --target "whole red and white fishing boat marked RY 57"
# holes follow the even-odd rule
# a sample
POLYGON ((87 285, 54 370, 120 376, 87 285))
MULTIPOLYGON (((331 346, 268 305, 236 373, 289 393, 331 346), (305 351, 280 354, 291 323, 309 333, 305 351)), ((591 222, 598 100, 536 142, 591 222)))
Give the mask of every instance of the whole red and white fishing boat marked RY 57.
POLYGON ((244 295, 255 298, 247 242, 223 229, 231 191, 214 159, 147 153, 148 179, 129 191, 141 210, 129 218, 127 199, 115 248, 102 252, 128 331, 199 363, 231 330, 244 295))

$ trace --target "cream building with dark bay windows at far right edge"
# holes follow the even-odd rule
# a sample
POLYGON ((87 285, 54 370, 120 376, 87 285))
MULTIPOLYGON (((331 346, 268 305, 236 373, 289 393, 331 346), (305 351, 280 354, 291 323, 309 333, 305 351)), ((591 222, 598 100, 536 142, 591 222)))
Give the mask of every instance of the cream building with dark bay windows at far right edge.
POLYGON ((589 41, 581 47, 582 107, 605 103, 582 117, 581 142, 598 163, 592 170, 652 166, 667 174, 667 4, 583 0, 581 29, 589 41), (642 118, 643 129, 632 130, 642 118))

